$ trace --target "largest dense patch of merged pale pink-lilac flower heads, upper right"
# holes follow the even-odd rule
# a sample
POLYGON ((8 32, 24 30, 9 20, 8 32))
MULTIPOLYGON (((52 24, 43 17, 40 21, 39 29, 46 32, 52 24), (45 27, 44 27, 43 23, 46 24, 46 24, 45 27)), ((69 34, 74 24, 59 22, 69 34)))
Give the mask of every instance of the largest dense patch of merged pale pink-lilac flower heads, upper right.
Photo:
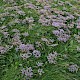
MULTIPOLYGON (((74 20, 74 16, 67 12, 62 12, 59 10, 54 10, 51 8, 50 5, 43 6, 43 9, 39 10, 39 13, 41 14, 39 18, 39 23, 41 23, 44 26, 54 26, 54 27, 69 27, 69 25, 66 24, 67 20, 74 20), (52 14, 53 12, 54 14, 52 14), (66 16, 64 16, 66 15, 66 16)), ((71 23, 70 23, 71 24, 71 23)))

